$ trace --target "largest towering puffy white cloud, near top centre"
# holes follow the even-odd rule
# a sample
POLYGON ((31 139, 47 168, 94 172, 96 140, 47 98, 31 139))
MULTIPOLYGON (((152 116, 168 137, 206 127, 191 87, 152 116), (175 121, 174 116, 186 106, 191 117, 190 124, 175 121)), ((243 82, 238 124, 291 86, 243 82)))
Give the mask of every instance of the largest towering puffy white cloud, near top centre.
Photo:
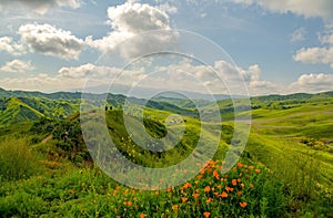
MULTIPOLYGON (((92 37, 85 39, 87 44, 102 52, 112 51, 117 45, 127 39, 142 32, 153 30, 170 30, 169 15, 159 7, 133 1, 125 2, 108 9, 108 23, 113 31, 107 37, 94 40, 92 37)), ((137 37, 121 48, 121 55, 124 58, 135 56, 142 52, 153 51, 154 48, 164 48, 174 41, 175 34, 165 32, 151 32, 144 37, 137 37)))

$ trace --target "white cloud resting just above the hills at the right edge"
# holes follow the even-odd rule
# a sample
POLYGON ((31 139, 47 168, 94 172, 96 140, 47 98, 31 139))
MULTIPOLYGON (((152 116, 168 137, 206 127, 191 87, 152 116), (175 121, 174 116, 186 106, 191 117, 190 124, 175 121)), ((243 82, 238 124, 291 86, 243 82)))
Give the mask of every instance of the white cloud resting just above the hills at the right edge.
POLYGON ((289 93, 295 92, 325 92, 333 90, 333 74, 303 74, 296 82, 289 85, 289 93))

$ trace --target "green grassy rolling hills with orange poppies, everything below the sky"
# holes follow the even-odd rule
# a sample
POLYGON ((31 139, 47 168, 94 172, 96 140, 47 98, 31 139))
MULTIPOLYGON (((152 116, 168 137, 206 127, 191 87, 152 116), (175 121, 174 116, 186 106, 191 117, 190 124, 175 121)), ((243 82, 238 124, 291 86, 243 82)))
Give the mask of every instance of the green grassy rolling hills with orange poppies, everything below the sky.
POLYGON ((94 123, 82 122, 78 93, 0 91, 0 217, 333 217, 333 92, 252 97, 251 108, 236 114, 252 117, 245 149, 225 174, 231 100, 218 102, 221 123, 211 102, 195 102, 201 121, 193 102, 171 97, 149 101, 141 122, 142 100, 124 108, 124 96, 94 96, 88 114, 102 112, 117 149, 138 165, 173 166, 195 152, 201 134, 218 142, 186 183, 169 187, 161 179, 163 188, 144 190, 110 178, 92 158, 81 128, 94 123), (131 139, 124 118, 152 138, 184 134, 176 145, 152 144, 165 152, 148 150, 131 139))

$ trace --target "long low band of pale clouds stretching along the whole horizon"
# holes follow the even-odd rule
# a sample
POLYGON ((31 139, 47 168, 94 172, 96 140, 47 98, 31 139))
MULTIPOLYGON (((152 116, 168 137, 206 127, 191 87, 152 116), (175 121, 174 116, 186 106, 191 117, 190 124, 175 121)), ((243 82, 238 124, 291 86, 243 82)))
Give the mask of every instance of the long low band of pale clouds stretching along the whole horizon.
MULTIPOLYGON (((316 93, 333 90, 332 74, 303 74, 291 84, 275 84, 261 79, 258 64, 246 69, 233 66, 225 61, 218 61, 212 68, 193 65, 191 62, 158 66, 154 73, 147 73, 144 68, 122 70, 97 66, 87 63, 79 66, 61 68, 57 75, 40 74, 29 77, 0 79, 4 89, 39 90, 53 92, 59 90, 82 90, 87 87, 108 87, 124 85, 128 87, 161 89, 208 93, 235 94, 245 83, 251 95, 272 93, 290 94, 296 92, 316 93), (216 76, 216 73, 219 76, 216 76), (244 81, 240 76, 244 77, 244 81), (89 82, 87 83, 87 76, 89 82), (220 80, 222 79, 222 80, 220 80), (181 82, 180 82, 181 81, 181 82), (226 83, 223 83, 226 82, 226 83), (225 85, 229 85, 228 87, 225 85)), ((242 94, 244 94, 242 92, 242 94)))

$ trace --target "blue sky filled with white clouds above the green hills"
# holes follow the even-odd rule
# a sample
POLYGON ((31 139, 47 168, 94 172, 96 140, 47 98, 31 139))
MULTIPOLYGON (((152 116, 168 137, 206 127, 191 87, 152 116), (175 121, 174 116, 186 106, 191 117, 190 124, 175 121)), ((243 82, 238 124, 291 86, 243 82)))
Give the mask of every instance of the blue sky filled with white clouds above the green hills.
POLYGON ((0 87, 110 84, 127 92, 332 91, 333 1, 0 2, 0 87))

